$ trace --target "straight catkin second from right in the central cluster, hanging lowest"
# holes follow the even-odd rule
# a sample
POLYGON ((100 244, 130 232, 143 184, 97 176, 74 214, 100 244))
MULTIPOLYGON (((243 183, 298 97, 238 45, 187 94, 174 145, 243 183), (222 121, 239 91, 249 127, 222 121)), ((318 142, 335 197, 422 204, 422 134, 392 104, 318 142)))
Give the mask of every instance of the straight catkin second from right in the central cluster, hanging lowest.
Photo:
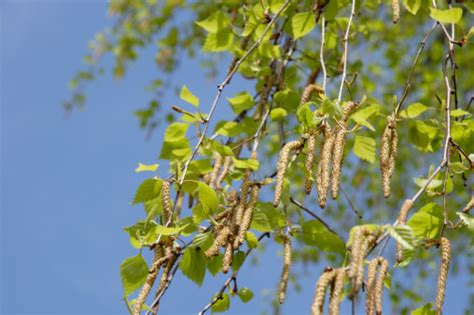
POLYGON ((331 154, 334 146, 334 135, 329 124, 322 125, 323 142, 321 144, 321 153, 318 164, 318 176, 316 178, 316 188, 318 190, 319 206, 324 208, 327 201, 327 193, 330 183, 330 163, 331 154))

